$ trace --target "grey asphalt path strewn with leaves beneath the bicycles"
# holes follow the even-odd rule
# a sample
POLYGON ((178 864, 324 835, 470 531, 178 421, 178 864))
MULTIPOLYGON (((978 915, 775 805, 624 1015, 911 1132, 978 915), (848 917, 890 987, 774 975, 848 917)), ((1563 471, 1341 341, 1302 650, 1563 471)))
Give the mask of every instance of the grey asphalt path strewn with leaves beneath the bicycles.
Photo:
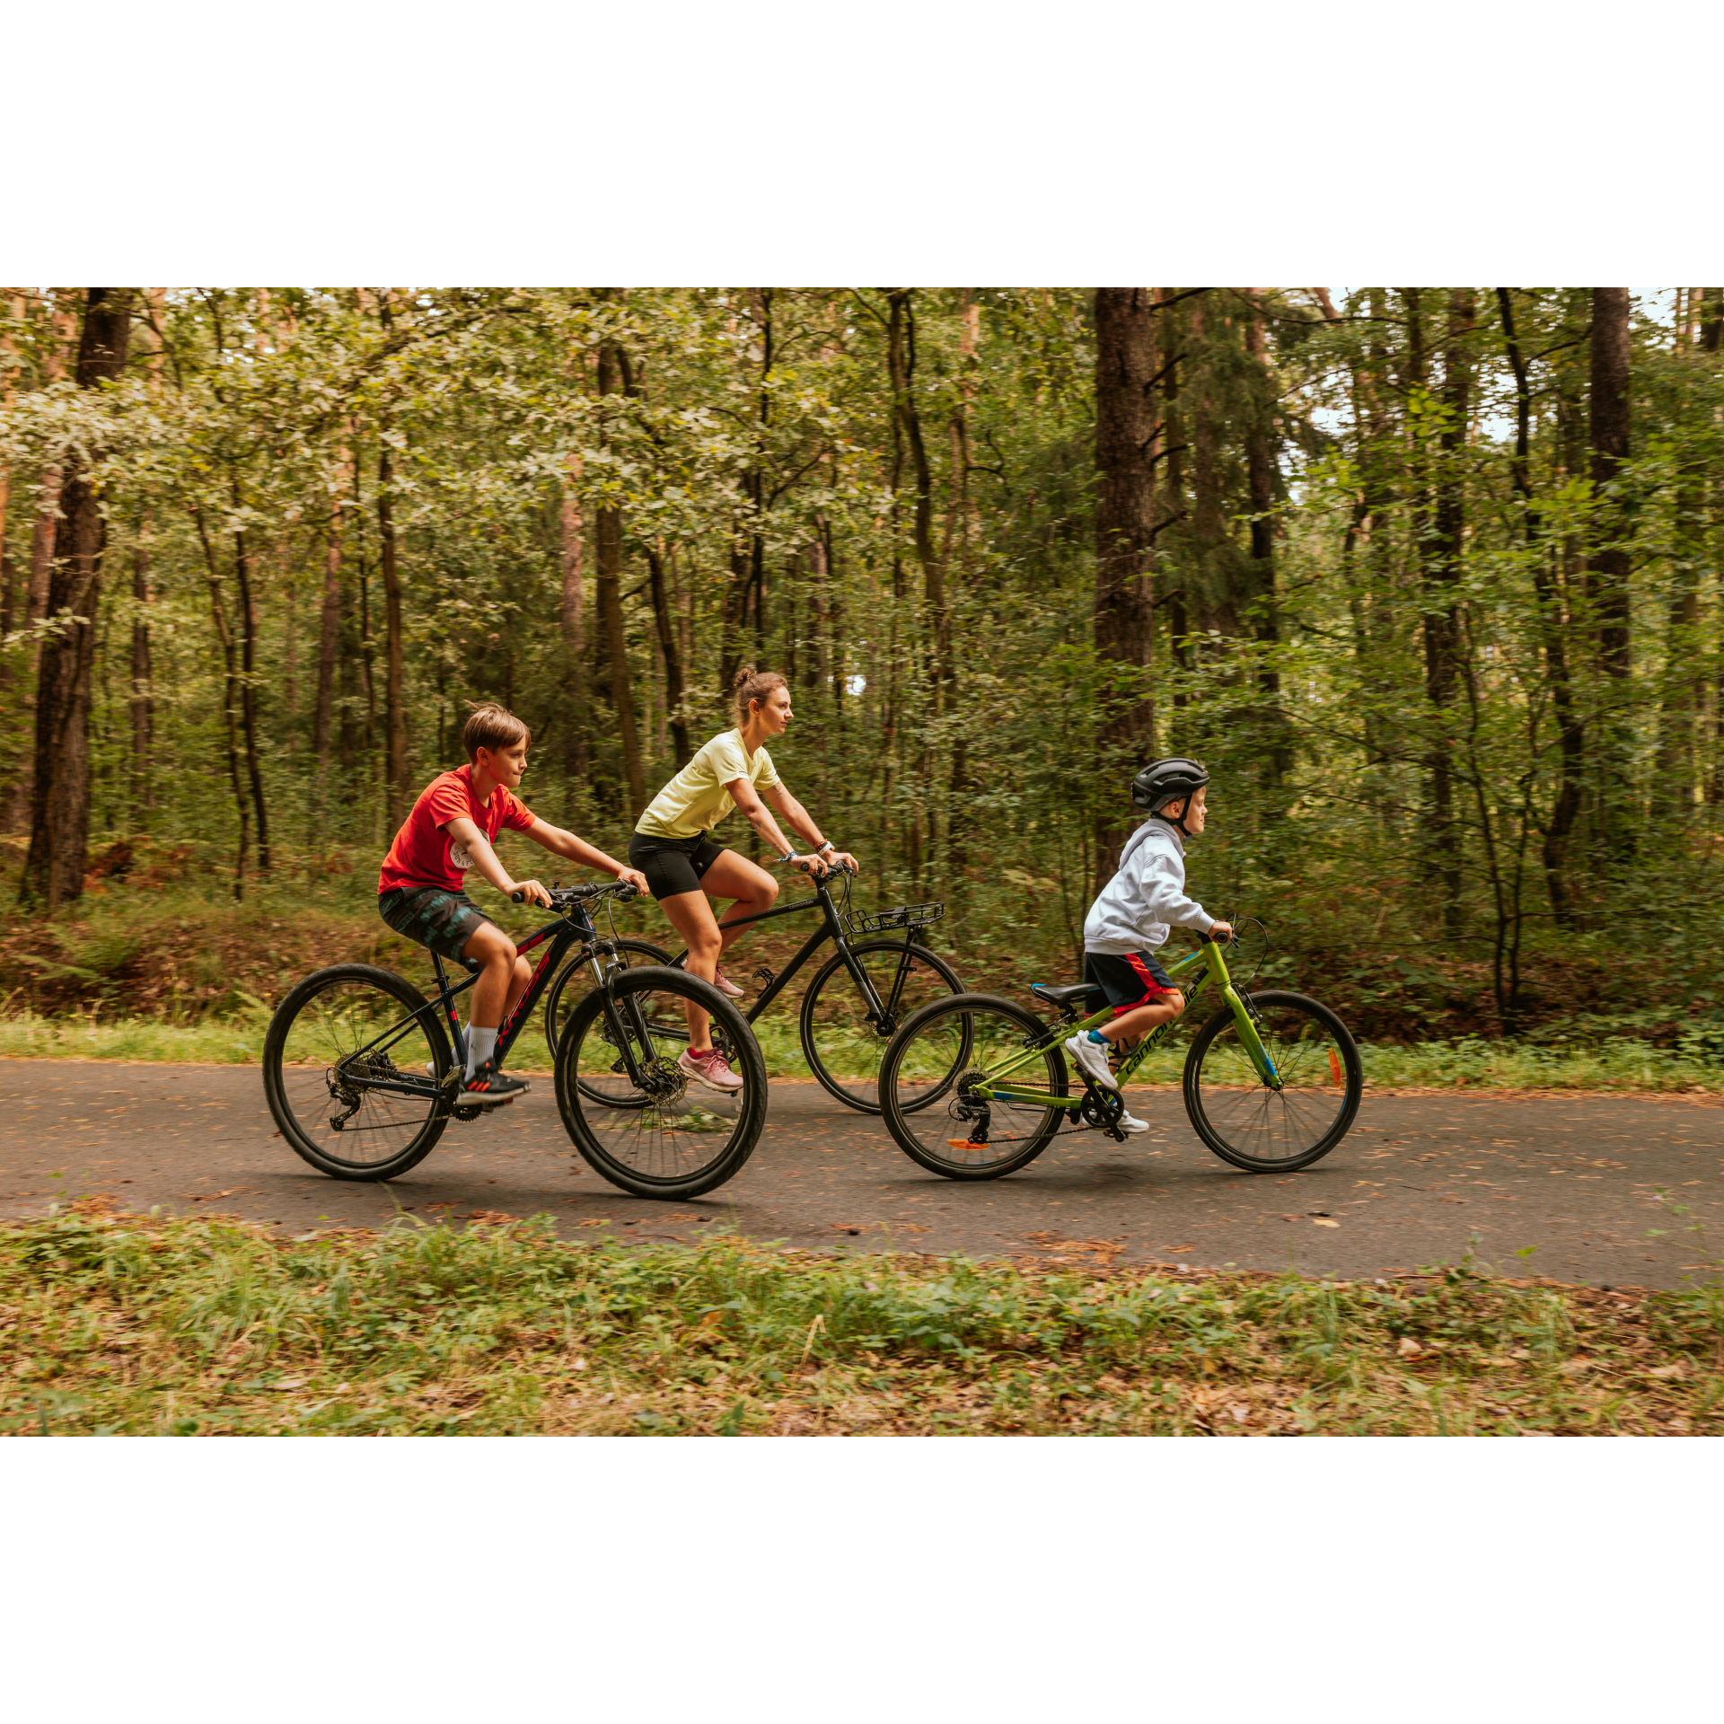
POLYGON ((326 1179, 293 1155, 255 1065, 0 1060, 0 1215, 79 1196, 222 1212, 295 1233, 398 1214, 484 1224, 552 1215, 572 1238, 698 1240, 733 1227, 814 1250, 967 1252, 1376 1276, 1457 1262, 1603 1286, 1703 1277, 1724 1222, 1724 1102, 1714 1096, 1365 1095, 1359 1124, 1302 1174, 1210 1155, 1176 1090, 1134 1090, 1152 1129, 1055 1138, 1009 1179, 924 1172, 884 1127, 814 1083, 774 1083, 748 1165, 705 1198, 648 1202, 572 1150, 548 1072, 388 1186, 326 1179), (1660 1195, 1662 1191, 1662 1195, 1660 1195))

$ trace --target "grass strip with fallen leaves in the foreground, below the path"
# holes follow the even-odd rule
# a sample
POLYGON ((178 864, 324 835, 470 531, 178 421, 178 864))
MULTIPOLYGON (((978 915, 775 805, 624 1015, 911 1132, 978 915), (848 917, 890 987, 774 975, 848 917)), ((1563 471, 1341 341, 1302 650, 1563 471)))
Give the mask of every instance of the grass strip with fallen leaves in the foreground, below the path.
MULTIPOLYGON (((0 1227, 19 1434, 1724 1431, 1724 1293, 559 1241, 0 1227)), ((1095 1253, 1095 1246, 1067 1252, 1095 1253)), ((1105 1253, 1103 1253, 1105 1255, 1105 1253)))

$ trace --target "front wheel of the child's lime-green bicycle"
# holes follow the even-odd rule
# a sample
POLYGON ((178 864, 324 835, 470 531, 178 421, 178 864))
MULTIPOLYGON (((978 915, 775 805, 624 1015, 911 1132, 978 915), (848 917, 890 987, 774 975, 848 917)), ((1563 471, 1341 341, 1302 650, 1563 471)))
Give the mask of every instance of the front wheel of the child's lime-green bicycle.
POLYGON ((1186 1055, 1186 1114, 1224 1162, 1248 1174, 1286 1174, 1321 1160, 1352 1129, 1364 1065, 1346 1024, 1326 1005, 1302 993, 1253 993, 1250 1000, 1281 1088, 1259 1076, 1224 1007, 1186 1055))

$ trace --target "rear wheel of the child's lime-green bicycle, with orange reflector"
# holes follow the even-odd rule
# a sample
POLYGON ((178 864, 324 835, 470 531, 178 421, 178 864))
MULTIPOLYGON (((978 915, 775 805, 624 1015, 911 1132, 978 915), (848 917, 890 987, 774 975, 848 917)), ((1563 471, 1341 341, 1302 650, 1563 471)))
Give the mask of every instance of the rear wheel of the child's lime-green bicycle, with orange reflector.
POLYGON ((946 1179, 998 1179, 1033 1162, 1059 1131, 1067 1095, 1059 1033, 990 993, 924 1005, 886 1045, 881 1112, 893 1143, 946 1179), (1010 1096, 991 1093, 995 1083, 1010 1096))

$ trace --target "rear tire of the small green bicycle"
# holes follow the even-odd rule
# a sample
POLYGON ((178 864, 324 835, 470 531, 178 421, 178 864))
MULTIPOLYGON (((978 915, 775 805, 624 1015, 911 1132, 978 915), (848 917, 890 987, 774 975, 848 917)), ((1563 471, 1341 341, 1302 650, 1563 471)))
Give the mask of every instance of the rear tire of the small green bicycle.
MULTIPOLYGON (((1003 1000, 993 993, 960 993, 948 1000, 933 1000, 905 1019, 903 1026, 886 1045, 886 1057, 879 1065, 879 1098, 886 1129, 891 1133, 893 1143, 917 1167, 926 1167, 945 1179, 1002 1179, 1005 1174, 1017 1172, 1019 1167, 1028 1167, 1053 1141, 1053 1134, 1060 1129, 1060 1121, 1067 1110, 1060 1107, 1022 1109, 1021 1112, 1029 1117, 1014 1121, 1024 1126, 1022 1134, 1014 1133, 1009 1143, 1002 1141, 998 1145, 972 1145, 965 1141, 964 1148, 959 1150, 945 1136, 945 1133, 953 1131, 953 1126, 941 1126, 940 1121, 967 1122, 974 1133, 978 1114, 974 1112, 974 1103, 964 1098, 962 1076, 957 1086, 950 1074, 941 1076, 941 1069, 948 1064, 946 1046, 953 1034, 959 1046, 964 1048, 964 1059, 978 1065, 988 1062, 990 1046, 998 1046, 1000 1052, 1005 1052, 1007 1046, 1022 1048, 1026 1040, 1036 1038, 1041 1043, 1041 1071, 1050 1096, 1071 1093, 1065 1053, 1059 1045, 1059 1036, 1034 1012, 1015 1000, 1003 1000), (962 1017, 967 1022, 952 1026, 946 1022, 952 1017, 962 1017), (995 1028, 990 1029, 983 1022, 984 1019, 991 1019, 995 1028), (929 1040, 936 1046, 933 1064, 938 1069, 921 1079, 907 1078, 905 1065, 914 1062, 917 1043, 926 1045, 929 1040), (905 1107, 903 1091, 910 1090, 914 1083, 936 1086, 934 1098, 948 1098, 946 1107, 940 1114, 928 1114, 924 1112, 928 1100, 919 1095, 910 1096, 912 1105, 905 1107), (971 1109, 971 1112, 962 1114, 962 1109, 971 1109), (1040 1117, 1036 1117, 1038 1112, 1040 1117), (986 1159, 979 1153, 984 1148, 1000 1148, 1005 1153, 986 1159)), ((1029 1079, 1019 1078, 1015 1081, 1028 1083, 1029 1079)), ((991 1129, 991 1117, 984 1121, 984 1129, 991 1129)))

